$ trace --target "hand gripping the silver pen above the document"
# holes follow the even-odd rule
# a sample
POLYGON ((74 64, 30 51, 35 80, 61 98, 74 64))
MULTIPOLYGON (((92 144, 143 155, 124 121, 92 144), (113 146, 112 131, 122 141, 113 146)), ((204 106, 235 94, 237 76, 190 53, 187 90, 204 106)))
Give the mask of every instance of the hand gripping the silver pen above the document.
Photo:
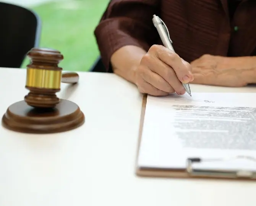
POLYGON ((139 91, 153 96, 167 96, 173 92, 185 94, 181 82, 193 80, 190 64, 161 45, 151 46, 135 75, 139 91))

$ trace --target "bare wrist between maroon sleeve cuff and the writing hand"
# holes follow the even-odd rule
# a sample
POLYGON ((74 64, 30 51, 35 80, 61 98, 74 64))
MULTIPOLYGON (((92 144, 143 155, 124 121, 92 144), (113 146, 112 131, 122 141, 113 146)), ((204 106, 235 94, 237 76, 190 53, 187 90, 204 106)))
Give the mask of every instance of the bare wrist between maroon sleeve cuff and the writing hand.
POLYGON ((138 46, 123 46, 111 56, 113 72, 135 84, 135 70, 144 54, 146 51, 138 46))

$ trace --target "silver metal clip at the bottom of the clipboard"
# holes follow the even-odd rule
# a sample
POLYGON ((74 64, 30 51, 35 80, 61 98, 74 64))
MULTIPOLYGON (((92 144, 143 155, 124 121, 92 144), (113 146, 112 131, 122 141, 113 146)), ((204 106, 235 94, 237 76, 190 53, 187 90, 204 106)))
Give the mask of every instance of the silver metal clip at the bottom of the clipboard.
MULTIPOLYGON (((235 156, 233 158, 188 158, 186 171, 190 176, 194 177, 216 177, 216 178, 246 178, 246 179, 256 179, 256 169, 254 171, 248 170, 229 170, 229 169, 201 169, 194 168, 194 164, 198 163, 209 163, 209 162, 218 162, 218 161, 229 161, 229 160, 250 160, 255 163, 256 166, 256 158, 250 156, 235 156)), ((256 167, 255 167, 256 168, 256 167)))

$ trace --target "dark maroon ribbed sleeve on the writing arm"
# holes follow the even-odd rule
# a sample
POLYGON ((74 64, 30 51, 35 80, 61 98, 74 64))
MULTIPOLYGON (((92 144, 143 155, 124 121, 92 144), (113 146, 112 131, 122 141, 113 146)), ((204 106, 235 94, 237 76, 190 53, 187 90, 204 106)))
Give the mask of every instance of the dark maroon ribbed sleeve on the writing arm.
POLYGON ((135 45, 148 50, 158 38, 152 23, 159 0, 112 0, 94 31, 102 62, 107 71, 110 58, 119 48, 135 45))

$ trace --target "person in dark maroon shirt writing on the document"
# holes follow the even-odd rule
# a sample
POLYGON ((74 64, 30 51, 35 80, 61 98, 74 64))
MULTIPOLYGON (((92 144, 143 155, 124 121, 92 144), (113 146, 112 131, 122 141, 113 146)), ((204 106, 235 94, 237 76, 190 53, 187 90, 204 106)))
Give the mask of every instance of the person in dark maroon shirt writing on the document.
POLYGON ((182 83, 256 83, 254 0, 111 0, 94 34, 106 71, 141 93, 184 94, 182 83), (162 46, 152 16, 169 29, 162 46))

